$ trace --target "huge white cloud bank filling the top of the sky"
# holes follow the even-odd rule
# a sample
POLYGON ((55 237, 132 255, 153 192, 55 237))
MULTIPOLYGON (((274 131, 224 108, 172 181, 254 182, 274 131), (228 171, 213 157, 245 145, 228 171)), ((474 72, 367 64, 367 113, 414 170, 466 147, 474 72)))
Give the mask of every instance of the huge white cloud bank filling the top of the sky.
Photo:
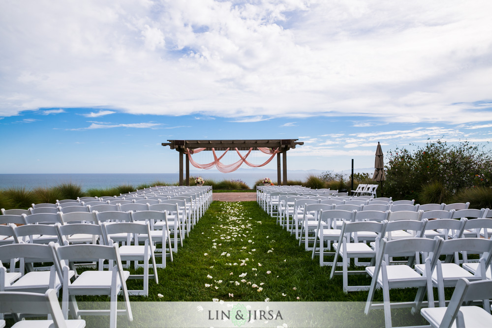
POLYGON ((488 0, 2 1, 0 116, 102 106, 241 122, 491 121, 491 10, 488 0))

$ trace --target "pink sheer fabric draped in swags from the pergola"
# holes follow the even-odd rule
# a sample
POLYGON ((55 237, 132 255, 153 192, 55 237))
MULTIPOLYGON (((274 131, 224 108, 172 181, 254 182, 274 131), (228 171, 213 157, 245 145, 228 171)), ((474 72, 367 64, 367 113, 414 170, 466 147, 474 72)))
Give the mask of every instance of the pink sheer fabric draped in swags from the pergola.
POLYGON ((196 168, 206 169, 206 170, 210 170, 211 168, 213 168, 214 166, 216 166, 217 170, 219 172, 222 172, 222 173, 234 172, 237 169, 239 169, 241 167, 241 165, 243 165, 243 163, 246 163, 246 165, 248 165, 250 167, 261 167, 261 166, 265 166, 265 165, 267 165, 268 163, 270 163, 272 161, 272 159, 275 157, 275 154, 277 154, 278 152, 280 152, 280 151, 278 151, 278 148, 276 150, 273 150, 273 151, 270 151, 269 148, 258 148, 258 150, 260 150, 261 152, 266 153, 266 154, 272 154, 272 156, 270 156, 270 158, 266 162, 264 162, 263 164, 256 165, 256 164, 252 164, 252 163, 250 163, 250 162, 248 162, 246 160, 247 156, 249 156, 249 154, 253 150, 252 148, 249 149, 249 151, 246 153, 245 156, 241 155, 241 153, 239 152, 239 150, 236 148, 236 152, 238 153, 239 157, 241 157, 241 159, 238 160, 235 163, 227 164, 226 165, 226 164, 222 164, 220 162, 220 160, 224 157, 224 155, 227 153, 227 151, 229 151, 229 148, 226 149, 224 151, 224 153, 220 157, 217 157, 217 154, 215 153, 215 149, 212 148, 212 153, 214 154, 214 161, 213 162, 210 162, 210 163, 207 163, 207 164, 198 164, 197 162, 195 162, 191 158, 191 154, 192 153, 196 153, 196 152, 200 152, 200 151, 203 151, 203 150, 205 150, 205 148, 197 148, 197 149, 193 149, 193 151, 190 151, 190 149, 186 149, 185 153, 188 155, 188 159, 189 159, 189 162, 191 163, 191 165, 193 165, 196 168))

